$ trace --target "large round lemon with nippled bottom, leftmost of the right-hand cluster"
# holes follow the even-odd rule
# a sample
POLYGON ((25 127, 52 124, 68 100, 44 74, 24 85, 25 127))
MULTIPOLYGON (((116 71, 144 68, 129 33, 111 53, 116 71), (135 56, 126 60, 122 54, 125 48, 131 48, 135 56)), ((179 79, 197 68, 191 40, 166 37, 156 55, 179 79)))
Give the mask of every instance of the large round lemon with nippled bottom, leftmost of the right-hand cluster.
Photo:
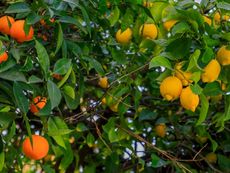
POLYGON ((160 85, 160 93, 166 100, 175 100, 180 96, 182 83, 174 76, 165 78, 160 85))

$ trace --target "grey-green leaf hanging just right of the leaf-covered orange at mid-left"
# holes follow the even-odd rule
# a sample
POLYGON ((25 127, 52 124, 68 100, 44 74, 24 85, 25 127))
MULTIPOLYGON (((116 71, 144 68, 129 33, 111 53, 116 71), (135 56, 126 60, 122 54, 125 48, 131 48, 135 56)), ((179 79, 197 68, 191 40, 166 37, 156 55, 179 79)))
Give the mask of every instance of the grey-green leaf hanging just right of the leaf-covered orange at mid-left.
POLYGON ((61 91, 51 80, 47 82, 47 90, 51 101, 51 108, 57 107, 61 102, 61 91))

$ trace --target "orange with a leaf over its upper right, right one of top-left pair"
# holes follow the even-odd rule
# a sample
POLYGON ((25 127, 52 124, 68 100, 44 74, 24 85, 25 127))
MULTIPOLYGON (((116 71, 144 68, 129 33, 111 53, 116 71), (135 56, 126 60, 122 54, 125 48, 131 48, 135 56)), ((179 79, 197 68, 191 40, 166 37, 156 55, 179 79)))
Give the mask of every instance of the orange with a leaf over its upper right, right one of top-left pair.
POLYGON ((23 43, 24 41, 30 41, 34 36, 34 29, 31 26, 29 33, 26 35, 24 31, 25 20, 18 20, 13 23, 10 29, 10 36, 14 38, 19 43, 23 43))

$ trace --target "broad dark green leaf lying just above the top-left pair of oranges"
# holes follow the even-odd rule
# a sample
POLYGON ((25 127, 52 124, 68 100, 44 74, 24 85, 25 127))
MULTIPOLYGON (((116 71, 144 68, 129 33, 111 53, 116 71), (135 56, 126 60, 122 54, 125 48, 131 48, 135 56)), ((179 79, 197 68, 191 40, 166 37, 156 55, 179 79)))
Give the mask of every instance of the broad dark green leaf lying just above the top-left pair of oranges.
POLYGON ((31 9, 30 9, 30 6, 25 3, 25 2, 18 2, 18 3, 13 3, 12 5, 10 5, 5 13, 9 13, 9 14, 12 14, 12 13, 28 13, 30 12, 31 9))

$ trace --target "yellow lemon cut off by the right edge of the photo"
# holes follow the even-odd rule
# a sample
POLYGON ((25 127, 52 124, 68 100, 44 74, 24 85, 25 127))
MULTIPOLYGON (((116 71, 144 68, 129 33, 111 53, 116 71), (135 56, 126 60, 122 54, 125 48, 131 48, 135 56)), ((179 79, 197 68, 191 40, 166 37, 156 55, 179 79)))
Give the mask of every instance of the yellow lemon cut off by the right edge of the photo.
POLYGON ((217 51, 216 58, 221 65, 229 65, 230 64, 230 50, 227 49, 227 46, 222 46, 217 51))

